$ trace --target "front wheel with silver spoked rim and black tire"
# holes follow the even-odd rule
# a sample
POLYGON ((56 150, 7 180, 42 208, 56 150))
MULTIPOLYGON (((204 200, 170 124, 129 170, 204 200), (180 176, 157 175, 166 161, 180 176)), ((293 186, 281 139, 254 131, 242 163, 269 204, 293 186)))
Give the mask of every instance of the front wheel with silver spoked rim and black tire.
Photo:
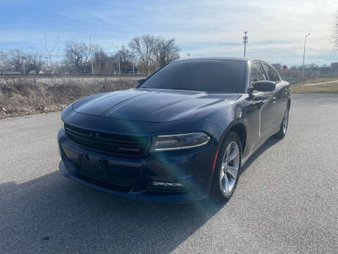
POLYGON ((236 189, 242 163, 242 144, 239 135, 230 132, 218 154, 213 173, 211 194, 223 203, 229 200, 236 189))

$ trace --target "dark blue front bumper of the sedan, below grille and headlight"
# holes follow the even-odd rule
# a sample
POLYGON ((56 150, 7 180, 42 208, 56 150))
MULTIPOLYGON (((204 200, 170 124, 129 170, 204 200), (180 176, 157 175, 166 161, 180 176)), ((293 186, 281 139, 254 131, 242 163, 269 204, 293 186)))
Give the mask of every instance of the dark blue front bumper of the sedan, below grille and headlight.
POLYGON ((217 150, 213 142, 193 151, 119 157, 78 146, 61 128, 58 145, 61 173, 99 191, 158 202, 201 200, 210 193, 217 150), (152 186, 153 181, 181 183, 184 187, 152 186))

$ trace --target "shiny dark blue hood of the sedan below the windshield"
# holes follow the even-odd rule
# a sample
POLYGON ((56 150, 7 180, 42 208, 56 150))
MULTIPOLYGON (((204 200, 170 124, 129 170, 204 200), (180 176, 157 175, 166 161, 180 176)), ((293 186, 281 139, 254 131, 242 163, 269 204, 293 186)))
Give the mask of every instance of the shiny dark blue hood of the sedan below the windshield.
POLYGON ((80 99, 73 103, 73 109, 82 114, 115 119, 167 122, 190 119, 206 108, 235 97, 237 94, 131 89, 80 99))

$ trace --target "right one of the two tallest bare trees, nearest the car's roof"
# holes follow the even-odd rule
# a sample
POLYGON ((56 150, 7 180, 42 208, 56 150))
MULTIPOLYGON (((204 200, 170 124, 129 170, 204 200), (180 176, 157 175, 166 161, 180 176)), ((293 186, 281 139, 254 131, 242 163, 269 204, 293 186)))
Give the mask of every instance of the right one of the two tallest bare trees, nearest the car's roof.
POLYGON ((165 66, 171 61, 180 59, 180 48, 175 45, 175 39, 165 40, 158 37, 154 45, 154 56, 158 68, 165 66))

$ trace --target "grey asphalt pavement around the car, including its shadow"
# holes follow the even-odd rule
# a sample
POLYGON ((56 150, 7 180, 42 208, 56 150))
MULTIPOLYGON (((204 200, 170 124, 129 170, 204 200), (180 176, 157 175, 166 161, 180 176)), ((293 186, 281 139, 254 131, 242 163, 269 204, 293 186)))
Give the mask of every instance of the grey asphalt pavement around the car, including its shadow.
POLYGON ((338 253, 338 95, 292 95, 286 138, 227 204, 102 193, 58 172, 61 113, 0 121, 0 253, 338 253))

